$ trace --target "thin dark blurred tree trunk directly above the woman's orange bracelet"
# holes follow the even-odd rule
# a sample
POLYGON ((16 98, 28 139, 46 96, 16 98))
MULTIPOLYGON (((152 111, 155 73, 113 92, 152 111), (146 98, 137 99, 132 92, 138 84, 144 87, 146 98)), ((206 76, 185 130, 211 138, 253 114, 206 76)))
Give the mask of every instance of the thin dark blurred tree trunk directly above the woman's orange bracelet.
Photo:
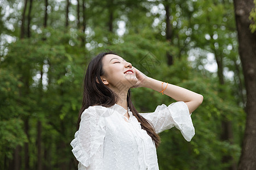
MULTIPOLYGON (((171 43, 171 37, 172 37, 172 32, 171 32, 171 23, 170 23, 170 5, 168 1, 165 1, 164 8, 166 10, 166 40, 171 43)), ((166 57, 167 57, 167 64, 170 66, 174 63, 174 57, 170 54, 170 52, 166 52, 166 57)))

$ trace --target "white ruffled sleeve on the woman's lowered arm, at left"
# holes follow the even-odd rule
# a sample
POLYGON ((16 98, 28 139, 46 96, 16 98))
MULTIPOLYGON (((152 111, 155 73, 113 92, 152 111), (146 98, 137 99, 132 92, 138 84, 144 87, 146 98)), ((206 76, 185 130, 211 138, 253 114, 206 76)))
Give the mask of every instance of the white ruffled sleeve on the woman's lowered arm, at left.
POLYGON ((103 169, 105 134, 104 118, 94 107, 85 109, 81 115, 79 130, 71 142, 72 152, 80 164, 79 169, 103 169))

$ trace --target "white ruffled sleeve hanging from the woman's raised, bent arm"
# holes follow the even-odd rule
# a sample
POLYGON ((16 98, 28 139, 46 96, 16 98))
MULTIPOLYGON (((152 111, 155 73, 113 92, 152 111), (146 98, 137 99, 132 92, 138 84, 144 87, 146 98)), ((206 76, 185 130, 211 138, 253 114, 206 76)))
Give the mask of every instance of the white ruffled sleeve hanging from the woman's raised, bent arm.
POLYGON ((156 107, 155 112, 139 114, 152 123, 156 133, 161 133, 175 126, 188 142, 195 135, 191 115, 187 104, 183 101, 177 101, 168 105, 168 107, 162 104, 156 107))

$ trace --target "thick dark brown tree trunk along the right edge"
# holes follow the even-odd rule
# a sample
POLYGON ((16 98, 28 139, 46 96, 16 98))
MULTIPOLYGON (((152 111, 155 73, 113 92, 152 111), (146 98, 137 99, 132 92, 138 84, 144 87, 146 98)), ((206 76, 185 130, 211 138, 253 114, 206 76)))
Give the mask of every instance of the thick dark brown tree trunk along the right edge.
POLYGON ((242 62, 247 103, 245 111, 246 127, 242 143, 242 153, 238 169, 256 167, 256 33, 251 33, 249 20, 253 0, 234 0, 234 10, 239 42, 239 54, 242 62))

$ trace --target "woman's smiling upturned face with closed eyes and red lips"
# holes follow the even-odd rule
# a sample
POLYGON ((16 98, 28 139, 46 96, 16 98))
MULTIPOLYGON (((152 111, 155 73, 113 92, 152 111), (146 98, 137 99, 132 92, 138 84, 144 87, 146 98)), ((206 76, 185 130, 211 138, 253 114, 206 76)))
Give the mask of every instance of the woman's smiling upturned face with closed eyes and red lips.
POLYGON ((119 91, 127 90, 138 81, 134 67, 122 57, 107 54, 102 59, 102 65, 105 74, 101 76, 101 80, 109 88, 117 88, 119 91))

